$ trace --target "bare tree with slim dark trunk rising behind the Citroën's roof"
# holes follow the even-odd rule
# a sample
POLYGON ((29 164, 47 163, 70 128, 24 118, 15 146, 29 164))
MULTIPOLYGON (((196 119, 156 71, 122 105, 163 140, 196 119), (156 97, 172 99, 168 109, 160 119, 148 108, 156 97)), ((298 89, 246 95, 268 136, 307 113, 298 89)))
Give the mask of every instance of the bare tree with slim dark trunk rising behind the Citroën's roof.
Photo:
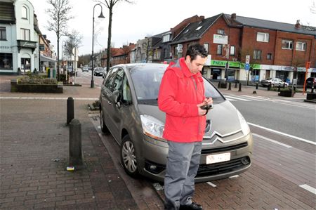
POLYGON ((103 4, 109 9, 109 27, 108 27, 108 34, 107 34, 107 70, 110 70, 110 50, 111 50, 111 38, 112 38, 112 11, 113 7, 119 1, 125 1, 129 4, 133 4, 133 1, 129 0, 95 0, 100 4, 103 4))

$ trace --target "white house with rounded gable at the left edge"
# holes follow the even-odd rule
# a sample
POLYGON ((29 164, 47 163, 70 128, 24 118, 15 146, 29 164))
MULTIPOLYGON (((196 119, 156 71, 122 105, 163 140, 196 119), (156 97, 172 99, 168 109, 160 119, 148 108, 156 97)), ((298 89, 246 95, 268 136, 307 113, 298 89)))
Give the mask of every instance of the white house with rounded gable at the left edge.
POLYGON ((31 2, 0 1, 0 74, 39 70, 40 32, 34 18, 31 2))

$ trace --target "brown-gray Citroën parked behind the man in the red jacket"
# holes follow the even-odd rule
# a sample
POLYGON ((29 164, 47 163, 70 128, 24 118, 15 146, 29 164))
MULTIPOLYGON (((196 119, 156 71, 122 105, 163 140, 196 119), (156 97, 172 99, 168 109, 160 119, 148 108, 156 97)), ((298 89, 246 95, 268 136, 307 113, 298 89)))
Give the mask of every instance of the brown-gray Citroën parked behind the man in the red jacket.
MULTIPOLYGON (((167 65, 125 64, 107 72, 100 91, 100 128, 120 145, 121 164, 130 176, 164 181, 168 143, 162 138, 166 114, 157 96, 167 65)), ((228 178, 251 166, 252 134, 242 114, 207 79, 213 98, 206 115, 202 156, 195 181, 228 178)))

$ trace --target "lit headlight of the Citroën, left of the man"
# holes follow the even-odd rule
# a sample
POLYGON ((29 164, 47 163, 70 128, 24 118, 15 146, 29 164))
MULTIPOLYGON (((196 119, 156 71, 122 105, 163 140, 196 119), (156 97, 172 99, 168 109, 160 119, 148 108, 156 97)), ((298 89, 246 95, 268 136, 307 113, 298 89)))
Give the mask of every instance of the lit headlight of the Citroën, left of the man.
POLYGON ((141 114, 143 133, 157 140, 164 140, 162 133, 164 132, 164 123, 150 115, 141 114))

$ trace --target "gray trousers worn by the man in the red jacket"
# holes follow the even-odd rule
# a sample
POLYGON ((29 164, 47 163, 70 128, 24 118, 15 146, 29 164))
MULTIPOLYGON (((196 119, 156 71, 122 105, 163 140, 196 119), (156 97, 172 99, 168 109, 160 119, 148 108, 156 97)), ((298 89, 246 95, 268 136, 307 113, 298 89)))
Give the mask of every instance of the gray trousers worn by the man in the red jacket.
POLYGON ((164 177, 165 209, 179 209, 192 203, 195 175, 199 168, 202 142, 176 143, 168 141, 169 152, 164 177))

